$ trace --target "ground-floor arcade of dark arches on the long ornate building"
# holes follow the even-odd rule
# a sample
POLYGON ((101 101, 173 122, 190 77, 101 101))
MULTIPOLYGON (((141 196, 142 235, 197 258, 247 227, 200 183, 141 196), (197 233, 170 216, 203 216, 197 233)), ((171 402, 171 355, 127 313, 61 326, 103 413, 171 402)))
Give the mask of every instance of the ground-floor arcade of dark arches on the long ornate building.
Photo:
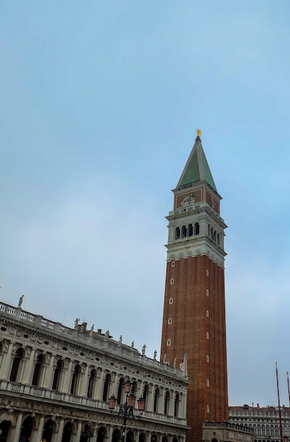
MULTIPOLYGON (((113 418, 112 418, 113 419, 113 418)), ((42 413, 0 412, 0 442, 120 442, 123 419, 106 422, 73 419, 65 416, 46 416, 42 413)), ((126 426, 126 442, 185 442, 183 435, 174 434, 162 425, 151 425, 141 420, 129 419, 126 426), (156 428, 157 427, 157 428, 156 428)))

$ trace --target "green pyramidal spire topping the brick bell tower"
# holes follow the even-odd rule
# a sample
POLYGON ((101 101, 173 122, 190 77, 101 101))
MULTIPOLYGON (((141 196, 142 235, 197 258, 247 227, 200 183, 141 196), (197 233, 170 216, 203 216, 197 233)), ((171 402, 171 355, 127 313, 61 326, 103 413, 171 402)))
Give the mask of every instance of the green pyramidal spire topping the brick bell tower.
POLYGON ((212 189, 217 191, 199 136, 195 138, 191 155, 188 157, 186 167, 183 169, 177 187, 193 184, 197 181, 206 181, 207 184, 210 184, 212 189))

